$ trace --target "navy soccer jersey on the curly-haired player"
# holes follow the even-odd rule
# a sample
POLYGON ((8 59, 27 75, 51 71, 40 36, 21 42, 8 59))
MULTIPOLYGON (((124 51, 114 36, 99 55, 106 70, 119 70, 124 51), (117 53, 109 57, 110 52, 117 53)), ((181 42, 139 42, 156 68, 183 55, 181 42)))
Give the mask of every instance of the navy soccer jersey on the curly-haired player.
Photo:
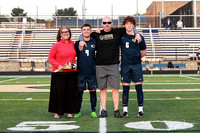
POLYGON ((134 42, 135 36, 125 33, 121 39, 121 64, 134 65, 141 63, 141 50, 146 49, 144 37, 140 35, 142 41, 138 44, 134 42))

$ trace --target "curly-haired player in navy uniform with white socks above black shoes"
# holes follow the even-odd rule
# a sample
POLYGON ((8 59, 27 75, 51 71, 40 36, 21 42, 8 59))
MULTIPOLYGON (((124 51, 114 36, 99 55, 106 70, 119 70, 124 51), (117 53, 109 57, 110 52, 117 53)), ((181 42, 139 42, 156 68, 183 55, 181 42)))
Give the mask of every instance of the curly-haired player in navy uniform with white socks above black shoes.
POLYGON ((130 82, 135 83, 135 89, 137 92, 138 100, 138 118, 143 117, 143 72, 141 65, 141 58, 146 55, 146 43, 143 36, 141 36, 142 41, 138 43, 134 42, 135 34, 133 31, 136 21, 133 17, 127 16, 123 20, 123 25, 126 28, 126 33, 122 36, 121 40, 121 80, 123 85, 123 117, 128 117, 128 100, 129 100, 129 90, 130 82))

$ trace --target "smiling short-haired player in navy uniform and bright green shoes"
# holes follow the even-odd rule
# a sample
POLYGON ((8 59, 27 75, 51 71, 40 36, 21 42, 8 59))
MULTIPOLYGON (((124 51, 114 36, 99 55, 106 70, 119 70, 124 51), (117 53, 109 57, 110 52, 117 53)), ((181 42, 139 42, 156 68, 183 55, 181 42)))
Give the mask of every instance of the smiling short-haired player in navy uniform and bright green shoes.
POLYGON ((81 33, 83 39, 87 44, 83 50, 79 50, 79 41, 75 43, 75 49, 77 53, 77 71, 78 71, 78 88, 79 88, 79 113, 75 114, 74 117, 81 117, 81 104, 83 91, 86 90, 86 84, 90 92, 90 103, 91 103, 91 117, 97 117, 96 115, 96 66, 95 66, 95 50, 96 41, 91 38, 91 26, 89 24, 84 24, 81 27, 81 33))

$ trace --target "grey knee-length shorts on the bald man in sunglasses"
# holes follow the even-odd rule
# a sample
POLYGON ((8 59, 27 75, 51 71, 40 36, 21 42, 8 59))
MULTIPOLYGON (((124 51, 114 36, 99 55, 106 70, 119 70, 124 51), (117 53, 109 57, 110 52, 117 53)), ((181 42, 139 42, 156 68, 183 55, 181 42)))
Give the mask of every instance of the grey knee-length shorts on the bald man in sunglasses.
POLYGON ((103 88, 120 88, 120 74, 118 64, 114 65, 97 65, 96 77, 99 89, 103 88))

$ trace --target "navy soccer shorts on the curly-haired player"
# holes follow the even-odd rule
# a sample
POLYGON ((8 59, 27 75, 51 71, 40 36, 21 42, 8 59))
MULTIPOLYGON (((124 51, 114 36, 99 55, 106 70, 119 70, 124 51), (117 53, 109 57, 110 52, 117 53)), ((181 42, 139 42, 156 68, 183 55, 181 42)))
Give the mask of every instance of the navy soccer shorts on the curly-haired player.
POLYGON ((143 81, 143 71, 141 64, 126 65, 121 68, 122 82, 130 83, 131 81, 137 83, 143 81))

